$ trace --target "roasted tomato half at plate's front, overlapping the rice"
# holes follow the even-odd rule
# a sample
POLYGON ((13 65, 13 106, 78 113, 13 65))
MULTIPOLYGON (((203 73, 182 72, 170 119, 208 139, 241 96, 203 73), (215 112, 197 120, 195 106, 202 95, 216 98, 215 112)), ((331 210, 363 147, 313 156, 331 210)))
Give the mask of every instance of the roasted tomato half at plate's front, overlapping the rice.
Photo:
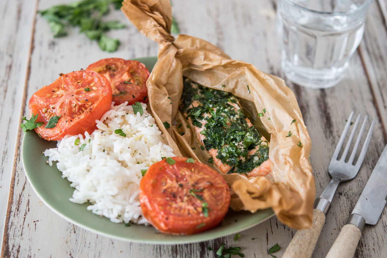
POLYGON ((230 203, 223 177, 185 157, 150 166, 140 181, 139 196, 144 217, 158 231, 171 234, 194 234, 215 227, 230 203))

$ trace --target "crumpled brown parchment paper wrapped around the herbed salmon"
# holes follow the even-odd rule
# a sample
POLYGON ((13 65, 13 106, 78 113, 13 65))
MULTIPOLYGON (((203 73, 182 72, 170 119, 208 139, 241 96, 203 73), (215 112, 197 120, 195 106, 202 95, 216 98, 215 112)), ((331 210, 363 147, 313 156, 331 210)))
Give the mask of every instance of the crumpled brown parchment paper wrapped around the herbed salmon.
POLYGON ((122 11, 142 34, 159 44, 158 62, 147 80, 149 105, 174 153, 208 164, 200 148, 192 150, 196 144, 194 135, 186 128, 179 111, 183 75, 204 86, 231 92, 240 98, 246 113, 253 116, 252 123, 270 138, 272 172, 266 177, 252 178, 223 175, 232 189, 230 207, 250 212, 271 207, 288 226, 310 227, 315 198, 309 163, 311 142, 295 95, 284 81, 249 63, 231 60, 218 47, 202 39, 187 35, 173 38, 170 0, 125 0, 122 11), (263 109, 264 116, 254 117, 263 109), (171 128, 164 127, 165 121, 171 128), (175 125, 179 123, 184 126, 177 128, 175 125), (289 131, 292 136, 286 137, 289 131))

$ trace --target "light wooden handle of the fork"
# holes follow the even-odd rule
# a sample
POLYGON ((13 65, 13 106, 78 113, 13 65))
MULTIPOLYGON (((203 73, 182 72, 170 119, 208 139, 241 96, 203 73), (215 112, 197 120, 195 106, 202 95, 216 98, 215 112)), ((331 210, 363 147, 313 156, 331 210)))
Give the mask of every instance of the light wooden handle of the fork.
POLYGON ((319 239, 325 214, 321 210, 313 210, 312 228, 296 232, 282 258, 310 258, 319 239))

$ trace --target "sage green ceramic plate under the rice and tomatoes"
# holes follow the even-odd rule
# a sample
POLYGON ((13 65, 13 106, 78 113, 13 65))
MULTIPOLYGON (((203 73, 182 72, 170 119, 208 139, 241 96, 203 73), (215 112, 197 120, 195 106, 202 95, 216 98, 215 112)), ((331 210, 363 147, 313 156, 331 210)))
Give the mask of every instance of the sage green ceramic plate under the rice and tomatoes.
MULTIPOLYGON (((138 58, 151 70, 157 61, 156 57, 138 58)), ((49 142, 40 138, 35 132, 24 134, 22 145, 22 161, 26 176, 39 198, 55 213, 64 219, 83 227, 89 231, 120 240, 151 243, 151 244, 180 244, 200 242, 217 237, 235 234, 253 227, 269 219, 271 209, 260 210, 254 214, 250 212, 229 211, 221 225, 214 229, 190 236, 172 236, 156 231, 154 227, 110 222, 106 217, 92 214, 86 207, 89 203, 76 204, 70 202, 74 188, 70 182, 62 178, 57 167, 46 164, 47 157, 42 153, 49 148, 55 148, 57 142, 49 142)))

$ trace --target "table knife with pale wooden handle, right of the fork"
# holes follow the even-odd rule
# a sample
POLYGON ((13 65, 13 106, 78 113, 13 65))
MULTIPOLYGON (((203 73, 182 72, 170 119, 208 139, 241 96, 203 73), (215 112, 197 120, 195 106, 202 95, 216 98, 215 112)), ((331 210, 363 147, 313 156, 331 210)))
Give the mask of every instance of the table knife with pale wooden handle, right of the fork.
POLYGON ((352 214, 326 258, 352 258, 365 224, 376 225, 387 198, 387 145, 368 179, 352 214))

